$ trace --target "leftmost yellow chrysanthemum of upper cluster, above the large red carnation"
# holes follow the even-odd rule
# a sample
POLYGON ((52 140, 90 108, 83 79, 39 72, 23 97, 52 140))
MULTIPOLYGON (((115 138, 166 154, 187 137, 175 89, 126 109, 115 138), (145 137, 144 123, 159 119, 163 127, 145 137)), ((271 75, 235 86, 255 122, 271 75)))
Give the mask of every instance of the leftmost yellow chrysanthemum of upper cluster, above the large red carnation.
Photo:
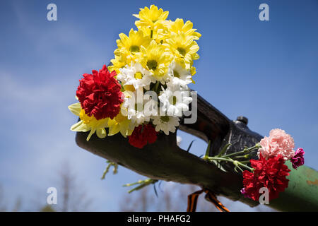
MULTIPOLYGON (((141 46, 147 47, 151 42, 150 37, 143 35, 143 31, 135 31, 131 29, 129 31, 129 36, 124 33, 119 34, 120 40, 117 40, 117 49, 115 49, 114 54, 117 57, 122 57, 131 61, 135 58, 136 54, 140 53, 141 46)), ((128 62, 127 62, 128 63, 128 62)))

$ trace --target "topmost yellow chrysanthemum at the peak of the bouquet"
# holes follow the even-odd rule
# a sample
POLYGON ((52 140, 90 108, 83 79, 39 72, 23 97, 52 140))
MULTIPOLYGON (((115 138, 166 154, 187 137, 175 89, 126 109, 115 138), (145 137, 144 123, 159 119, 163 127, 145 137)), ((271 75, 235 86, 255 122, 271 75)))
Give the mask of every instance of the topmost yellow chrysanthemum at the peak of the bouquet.
POLYGON ((155 5, 151 5, 150 8, 140 8, 139 14, 133 14, 133 16, 140 19, 135 23, 139 29, 142 27, 154 28, 155 25, 162 23, 168 15, 168 11, 163 11, 162 8, 158 9, 155 5))

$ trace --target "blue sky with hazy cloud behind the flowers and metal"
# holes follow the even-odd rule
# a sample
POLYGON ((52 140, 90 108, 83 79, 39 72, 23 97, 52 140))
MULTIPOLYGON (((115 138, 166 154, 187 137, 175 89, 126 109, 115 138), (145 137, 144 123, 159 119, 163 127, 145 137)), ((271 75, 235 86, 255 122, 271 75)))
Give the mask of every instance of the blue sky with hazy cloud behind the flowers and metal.
MULTIPOLYGON (((95 210, 118 210, 122 184, 141 178, 121 167, 101 181, 105 160, 76 146, 67 106, 81 75, 108 64, 119 32, 135 28, 131 14, 152 3, 202 34, 192 89, 230 119, 244 115, 261 135, 284 129, 305 149, 305 164, 318 168, 318 1, 1 1, 0 184, 9 203, 45 194, 65 160, 95 210), (47 20, 49 3, 57 21, 47 20), (269 21, 259 20, 262 3, 269 21)), ((192 136, 179 135, 186 148, 192 136)), ((205 148, 196 138, 192 151, 205 148)))

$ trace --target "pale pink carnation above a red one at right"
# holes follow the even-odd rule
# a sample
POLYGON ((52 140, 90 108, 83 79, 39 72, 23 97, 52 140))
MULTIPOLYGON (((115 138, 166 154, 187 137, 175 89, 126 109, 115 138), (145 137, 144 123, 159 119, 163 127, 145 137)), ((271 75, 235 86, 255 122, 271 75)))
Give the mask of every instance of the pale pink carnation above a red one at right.
POLYGON ((295 155, 294 139, 282 129, 272 129, 269 137, 265 136, 259 143, 261 148, 257 155, 261 154, 266 159, 281 155, 284 160, 290 160, 295 155))

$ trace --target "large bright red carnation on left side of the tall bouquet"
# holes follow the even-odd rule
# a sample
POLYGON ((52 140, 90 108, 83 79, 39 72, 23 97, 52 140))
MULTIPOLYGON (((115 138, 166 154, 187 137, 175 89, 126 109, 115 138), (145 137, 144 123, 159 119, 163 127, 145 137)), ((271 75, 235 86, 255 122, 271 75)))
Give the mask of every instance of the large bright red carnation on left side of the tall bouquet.
POLYGON ((84 78, 80 80, 76 91, 81 107, 89 117, 93 115, 95 119, 113 119, 123 102, 121 86, 114 78, 116 72, 110 73, 104 65, 102 70, 93 70, 92 73, 83 74, 84 78))

